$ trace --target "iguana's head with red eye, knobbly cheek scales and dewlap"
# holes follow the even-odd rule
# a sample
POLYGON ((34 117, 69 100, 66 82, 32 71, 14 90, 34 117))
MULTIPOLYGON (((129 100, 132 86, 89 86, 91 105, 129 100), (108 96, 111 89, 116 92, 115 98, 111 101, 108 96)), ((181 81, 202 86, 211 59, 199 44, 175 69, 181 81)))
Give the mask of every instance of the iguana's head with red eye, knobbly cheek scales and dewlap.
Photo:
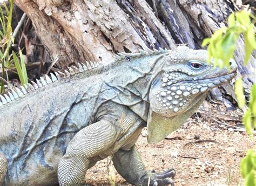
POLYGON ((150 89, 150 112, 147 120, 148 141, 156 143, 180 127, 206 97, 209 89, 230 81, 231 70, 207 64, 207 51, 179 46, 161 60, 150 89))

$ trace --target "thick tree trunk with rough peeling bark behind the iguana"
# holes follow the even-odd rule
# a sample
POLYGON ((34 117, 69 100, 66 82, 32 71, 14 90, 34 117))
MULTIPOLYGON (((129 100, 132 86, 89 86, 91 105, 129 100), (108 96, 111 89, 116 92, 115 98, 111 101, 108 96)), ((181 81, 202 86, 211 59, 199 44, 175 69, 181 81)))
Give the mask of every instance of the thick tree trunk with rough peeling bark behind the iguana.
MULTIPOLYGON (((226 25, 237 10, 231 0, 16 0, 52 60, 59 67, 84 60, 113 59, 114 52, 186 44, 199 49, 202 40, 226 25)), ((245 88, 255 81, 254 58, 243 67, 244 42, 237 43, 235 60, 245 88)), ((232 87, 224 86, 233 97, 232 87)))

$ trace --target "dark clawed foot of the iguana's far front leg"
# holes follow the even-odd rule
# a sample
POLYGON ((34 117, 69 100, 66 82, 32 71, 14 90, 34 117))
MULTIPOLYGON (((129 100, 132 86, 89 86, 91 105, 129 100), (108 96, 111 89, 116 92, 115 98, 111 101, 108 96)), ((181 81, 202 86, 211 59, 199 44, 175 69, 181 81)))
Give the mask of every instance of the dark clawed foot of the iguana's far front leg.
POLYGON ((139 183, 136 185, 153 185, 153 186, 172 185, 174 186, 174 182, 172 178, 175 175, 176 175, 176 171, 174 169, 166 170, 164 173, 156 173, 156 171, 151 170, 145 176, 140 178, 139 183), (149 183, 149 179, 150 179, 150 183, 149 183))

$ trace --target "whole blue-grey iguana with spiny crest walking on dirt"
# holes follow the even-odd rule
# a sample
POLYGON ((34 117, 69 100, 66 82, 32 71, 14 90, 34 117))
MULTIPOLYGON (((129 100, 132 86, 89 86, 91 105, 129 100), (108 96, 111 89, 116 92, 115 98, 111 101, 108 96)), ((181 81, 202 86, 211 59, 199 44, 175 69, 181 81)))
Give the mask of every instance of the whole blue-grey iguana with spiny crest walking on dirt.
POLYGON ((86 170, 113 155, 132 184, 173 184, 173 169, 147 173, 135 142, 147 127, 149 143, 163 140, 205 99, 231 80, 207 64, 207 52, 119 53, 113 63, 79 64, 0 96, 0 183, 81 185, 86 170), (89 68, 89 69, 88 69, 89 68), (90 69, 92 68, 92 69, 90 69))

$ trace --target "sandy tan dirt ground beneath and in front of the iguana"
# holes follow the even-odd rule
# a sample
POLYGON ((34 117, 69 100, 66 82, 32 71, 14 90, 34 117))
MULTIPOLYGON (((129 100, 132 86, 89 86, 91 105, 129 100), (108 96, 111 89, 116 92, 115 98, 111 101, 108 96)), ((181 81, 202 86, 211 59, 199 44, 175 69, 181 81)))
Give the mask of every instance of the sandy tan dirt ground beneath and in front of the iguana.
MULTIPOLYGON (((145 167, 157 172, 174 168, 175 185, 242 185, 239 164, 246 150, 255 147, 255 136, 237 131, 242 130, 235 127, 241 124, 241 111, 226 111, 224 106, 206 101, 203 105, 160 143, 148 144, 143 129, 137 146, 145 167)), ((110 175, 116 185, 129 185, 113 166, 109 169, 113 169, 110 175)), ((91 185, 110 185, 107 172, 105 159, 87 171, 85 181, 91 185)))

